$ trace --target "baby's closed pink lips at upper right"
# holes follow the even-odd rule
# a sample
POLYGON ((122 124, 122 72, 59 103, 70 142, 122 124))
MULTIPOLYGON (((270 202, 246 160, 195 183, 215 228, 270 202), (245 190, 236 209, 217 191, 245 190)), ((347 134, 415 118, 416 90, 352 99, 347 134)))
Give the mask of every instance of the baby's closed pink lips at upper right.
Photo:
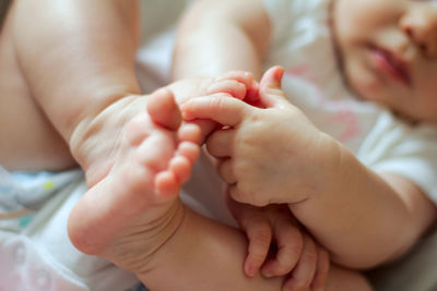
POLYGON ((401 82, 405 86, 411 86, 410 69, 404 60, 397 57, 389 50, 381 49, 378 47, 370 47, 370 53, 375 65, 398 82, 401 82))

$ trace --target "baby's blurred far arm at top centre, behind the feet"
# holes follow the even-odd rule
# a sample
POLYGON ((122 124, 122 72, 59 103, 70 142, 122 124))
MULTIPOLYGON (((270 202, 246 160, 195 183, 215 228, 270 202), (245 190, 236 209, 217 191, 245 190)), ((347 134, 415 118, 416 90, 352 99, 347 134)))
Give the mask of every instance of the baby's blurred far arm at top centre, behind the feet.
POLYGON ((232 70, 261 75, 270 23, 261 0, 196 1, 178 28, 174 78, 232 70))

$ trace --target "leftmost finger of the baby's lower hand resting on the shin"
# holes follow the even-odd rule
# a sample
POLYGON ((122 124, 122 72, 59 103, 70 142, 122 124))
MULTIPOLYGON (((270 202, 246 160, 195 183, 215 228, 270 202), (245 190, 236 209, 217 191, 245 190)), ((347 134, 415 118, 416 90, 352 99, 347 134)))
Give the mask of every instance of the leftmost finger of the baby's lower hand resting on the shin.
POLYGON ((244 219, 243 223, 241 228, 246 230, 246 234, 249 239, 245 272, 249 277, 255 277, 269 254, 270 243, 272 241, 271 226, 268 220, 258 217, 244 219))

